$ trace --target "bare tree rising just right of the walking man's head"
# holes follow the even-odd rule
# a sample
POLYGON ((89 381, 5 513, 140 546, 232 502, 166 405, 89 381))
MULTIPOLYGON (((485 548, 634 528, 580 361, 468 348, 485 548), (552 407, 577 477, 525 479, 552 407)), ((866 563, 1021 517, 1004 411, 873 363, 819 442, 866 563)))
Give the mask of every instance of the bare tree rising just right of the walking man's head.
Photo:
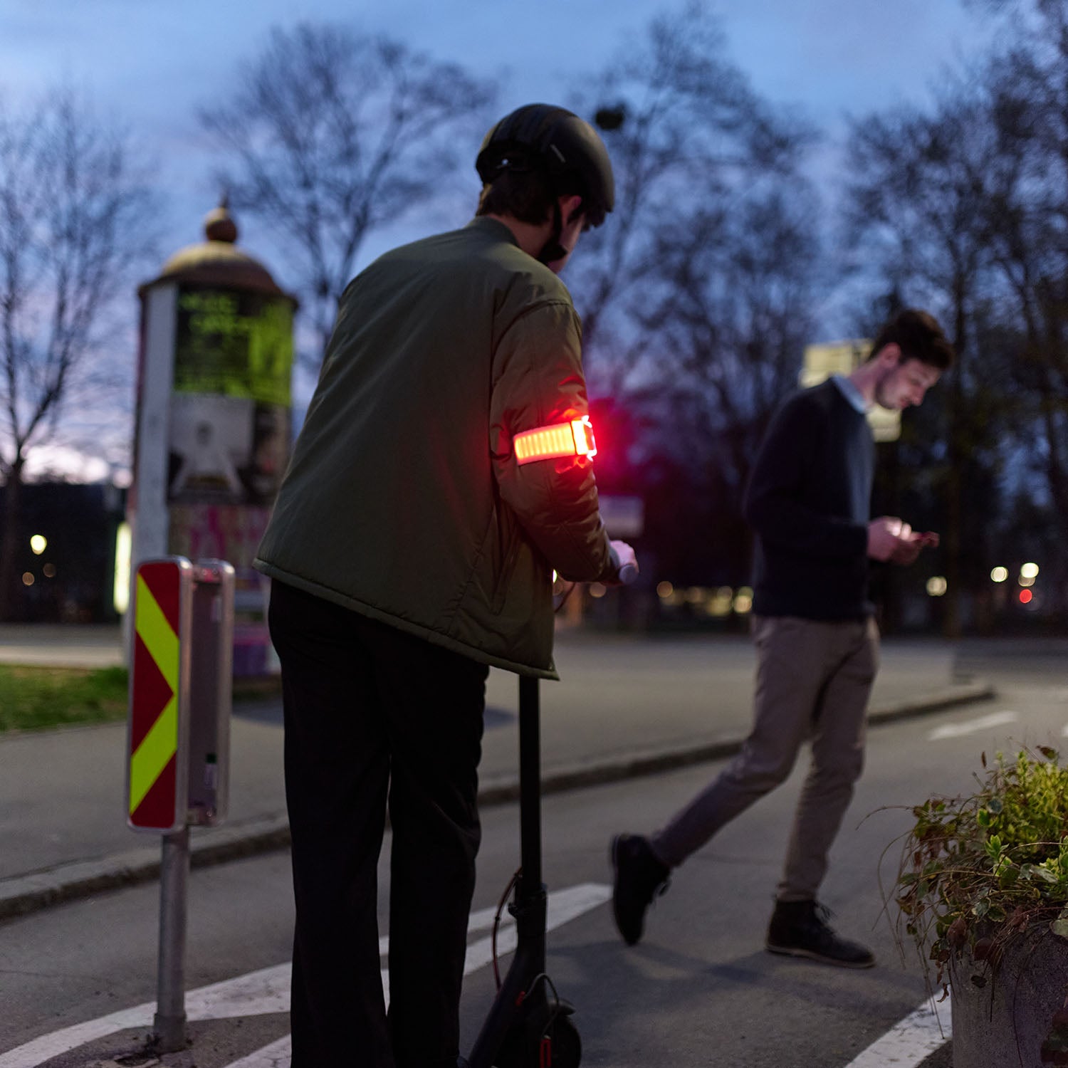
POLYGON ((965 537, 965 531, 984 529, 968 514, 975 500, 970 486, 987 484, 1004 425, 995 403, 1005 398, 999 366, 989 352, 978 358, 983 337, 976 329, 986 305, 998 299, 989 234, 991 189, 1002 180, 996 142, 981 89, 958 82, 930 112, 902 108, 855 120, 847 147, 844 257, 875 274, 881 292, 899 293, 906 303, 938 315, 957 354, 927 411, 915 417, 930 440, 913 450, 917 462, 937 470, 943 501, 948 637, 960 633, 961 594, 981 569, 983 545, 965 537))

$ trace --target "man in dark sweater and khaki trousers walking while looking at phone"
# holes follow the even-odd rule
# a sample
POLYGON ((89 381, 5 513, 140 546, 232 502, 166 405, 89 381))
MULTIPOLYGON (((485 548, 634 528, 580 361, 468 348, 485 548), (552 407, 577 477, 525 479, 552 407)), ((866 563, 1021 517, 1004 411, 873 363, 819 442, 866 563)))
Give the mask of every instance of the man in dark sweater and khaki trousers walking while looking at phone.
POLYGON ((645 911, 671 870, 789 775, 812 741, 779 883, 767 948, 847 968, 869 968, 865 946, 827 924, 816 895, 828 852, 860 776, 879 632, 868 561, 911 564, 938 536, 894 516, 869 519, 875 444, 865 412, 923 402, 951 366, 953 348, 928 313, 888 323, 869 359, 848 377, 788 397, 772 418, 744 500, 756 534, 753 729, 741 752, 650 837, 612 841, 613 911, 624 941, 642 937, 645 911))

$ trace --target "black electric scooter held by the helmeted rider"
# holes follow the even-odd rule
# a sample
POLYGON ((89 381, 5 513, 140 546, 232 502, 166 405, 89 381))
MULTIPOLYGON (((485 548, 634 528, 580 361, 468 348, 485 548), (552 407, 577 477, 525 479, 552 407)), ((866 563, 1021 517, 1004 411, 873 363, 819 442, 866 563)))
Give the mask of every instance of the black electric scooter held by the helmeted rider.
MULTIPOLYGON (((638 570, 627 564, 629 585, 638 570)), ((548 890, 541 882, 541 765, 538 680, 519 676, 519 853, 521 867, 508 912, 516 920, 516 955, 468 1058, 470 1068, 578 1068, 582 1041, 575 1007, 546 973, 548 890)), ((505 892, 507 893, 507 892, 505 892)))

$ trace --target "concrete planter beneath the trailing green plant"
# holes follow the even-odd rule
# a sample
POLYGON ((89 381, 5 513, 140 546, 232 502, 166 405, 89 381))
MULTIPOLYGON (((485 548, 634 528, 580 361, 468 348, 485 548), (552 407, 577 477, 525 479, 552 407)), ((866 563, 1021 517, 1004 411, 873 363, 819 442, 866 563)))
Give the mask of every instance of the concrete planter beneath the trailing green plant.
POLYGON ((953 1068, 1040 1068, 1068 990, 1068 941, 1036 927, 1008 945, 993 972, 965 952, 949 978, 953 1068), (972 975, 986 976, 986 986, 972 975))

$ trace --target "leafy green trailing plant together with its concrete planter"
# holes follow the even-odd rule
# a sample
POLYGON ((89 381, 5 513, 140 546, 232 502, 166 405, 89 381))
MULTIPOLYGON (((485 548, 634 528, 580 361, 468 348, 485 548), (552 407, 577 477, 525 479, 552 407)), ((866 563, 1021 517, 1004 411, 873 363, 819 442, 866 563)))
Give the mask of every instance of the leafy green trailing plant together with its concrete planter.
POLYGON ((1068 1065, 1068 767, 998 754, 968 797, 912 810, 901 927, 951 998, 954 1068, 1068 1065))

